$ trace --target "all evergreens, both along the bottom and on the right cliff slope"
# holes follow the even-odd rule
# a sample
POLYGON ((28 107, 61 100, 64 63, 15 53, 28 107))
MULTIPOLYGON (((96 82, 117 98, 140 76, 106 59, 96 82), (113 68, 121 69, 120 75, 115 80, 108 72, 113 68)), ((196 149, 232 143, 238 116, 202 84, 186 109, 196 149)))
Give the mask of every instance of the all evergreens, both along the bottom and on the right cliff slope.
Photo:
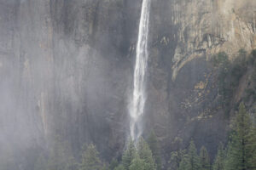
MULTIPOLYGON (((246 53, 240 50, 239 56, 231 64, 228 55, 219 53, 212 58, 218 66, 218 94, 224 110, 230 111, 231 98, 245 71, 251 69, 252 84, 256 84, 256 50, 246 59, 246 53)), ((256 100, 256 87, 250 86, 244 101, 256 100)), ((253 102, 251 102, 253 103, 253 102)), ((165 169, 168 170, 256 170, 256 125, 247 113, 243 103, 230 123, 230 136, 227 144, 219 144, 218 153, 211 162, 207 148, 197 150, 191 140, 186 150, 171 153, 171 159, 165 169)), ((33 170, 160 170, 162 166, 160 146, 152 131, 147 140, 141 138, 137 144, 130 141, 122 154, 110 163, 102 161, 94 144, 86 144, 79 156, 66 141, 56 136, 47 153, 42 152, 33 162, 33 170)), ((11 147, 0 148, 0 169, 19 169, 15 162, 15 152, 11 147)))

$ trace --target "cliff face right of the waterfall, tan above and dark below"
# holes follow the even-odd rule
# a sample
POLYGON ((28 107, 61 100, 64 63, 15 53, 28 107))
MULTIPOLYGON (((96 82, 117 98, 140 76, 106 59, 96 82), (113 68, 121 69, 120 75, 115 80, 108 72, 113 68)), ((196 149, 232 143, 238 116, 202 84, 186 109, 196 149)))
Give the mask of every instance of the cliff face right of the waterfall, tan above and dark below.
POLYGON ((234 59, 241 48, 255 48, 255 5, 229 0, 152 4, 147 122, 154 124, 164 148, 172 148, 175 138, 195 139, 214 153, 224 139, 228 122, 215 111, 216 73, 208 60, 221 51, 234 59))

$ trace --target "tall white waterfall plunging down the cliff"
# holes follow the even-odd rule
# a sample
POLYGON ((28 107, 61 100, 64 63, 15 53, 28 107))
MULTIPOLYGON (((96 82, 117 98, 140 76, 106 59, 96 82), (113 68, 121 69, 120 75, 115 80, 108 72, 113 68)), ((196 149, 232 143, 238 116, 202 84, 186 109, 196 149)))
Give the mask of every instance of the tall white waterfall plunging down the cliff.
POLYGON ((130 108, 131 139, 137 139, 143 133, 142 116, 146 101, 145 83, 148 66, 148 23, 151 0, 143 0, 142 12, 137 39, 136 64, 133 77, 133 94, 130 108))

